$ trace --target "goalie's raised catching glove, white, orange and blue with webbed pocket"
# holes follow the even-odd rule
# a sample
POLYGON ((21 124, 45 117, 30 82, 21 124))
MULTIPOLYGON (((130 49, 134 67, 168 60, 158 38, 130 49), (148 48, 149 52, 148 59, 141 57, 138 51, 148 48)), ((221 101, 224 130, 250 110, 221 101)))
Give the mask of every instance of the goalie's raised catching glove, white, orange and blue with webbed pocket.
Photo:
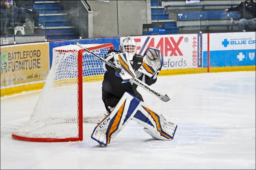
POLYGON ((157 48, 151 47, 146 50, 143 57, 143 63, 138 69, 148 77, 155 79, 164 64, 163 55, 157 48))

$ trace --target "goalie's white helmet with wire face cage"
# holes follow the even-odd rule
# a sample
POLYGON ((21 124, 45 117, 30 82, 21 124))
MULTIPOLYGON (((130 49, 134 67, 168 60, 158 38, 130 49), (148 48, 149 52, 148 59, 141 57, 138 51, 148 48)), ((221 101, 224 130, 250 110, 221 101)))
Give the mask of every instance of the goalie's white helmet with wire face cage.
POLYGON ((132 60, 137 50, 137 44, 131 37, 126 37, 119 46, 121 52, 128 53, 128 59, 132 60))

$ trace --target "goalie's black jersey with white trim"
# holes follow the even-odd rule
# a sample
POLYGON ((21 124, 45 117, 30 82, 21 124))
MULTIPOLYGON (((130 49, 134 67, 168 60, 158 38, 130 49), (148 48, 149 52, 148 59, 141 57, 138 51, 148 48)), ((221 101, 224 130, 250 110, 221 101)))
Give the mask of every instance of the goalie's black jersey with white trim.
MULTIPOLYGON (((109 62, 114 63, 113 55, 116 53, 119 53, 119 52, 120 51, 109 50, 108 53, 105 55, 105 59, 108 60, 109 62)), ((133 56, 131 65, 135 72, 136 78, 140 79, 147 85, 152 85, 156 82, 156 79, 151 79, 147 75, 138 71, 138 69, 142 65, 142 62, 143 62, 142 55, 135 54, 133 56)), ((115 70, 105 63, 103 64, 103 68, 106 70, 105 75, 104 75, 104 80, 102 82, 102 92, 103 93, 104 92, 107 92, 108 94, 111 93, 120 98, 123 96, 124 92, 129 92, 132 95, 137 96, 138 85, 136 85, 130 81, 124 82, 124 80, 122 78, 116 76, 115 70)))

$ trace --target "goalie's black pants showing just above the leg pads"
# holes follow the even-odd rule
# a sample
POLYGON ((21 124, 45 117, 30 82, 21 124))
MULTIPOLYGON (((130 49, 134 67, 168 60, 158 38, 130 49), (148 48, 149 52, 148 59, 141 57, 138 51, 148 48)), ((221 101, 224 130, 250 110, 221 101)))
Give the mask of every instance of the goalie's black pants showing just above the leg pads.
MULTIPOLYGON (((139 92, 137 92, 136 94, 132 94, 133 96, 135 96, 136 98, 138 98, 140 101, 144 101, 141 94, 139 92)), ((117 103, 119 102, 119 100, 121 99, 121 97, 115 96, 112 93, 109 93, 105 90, 102 89, 102 100, 105 104, 105 108, 106 110, 110 113, 110 109, 109 107, 116 107, 117 103)))

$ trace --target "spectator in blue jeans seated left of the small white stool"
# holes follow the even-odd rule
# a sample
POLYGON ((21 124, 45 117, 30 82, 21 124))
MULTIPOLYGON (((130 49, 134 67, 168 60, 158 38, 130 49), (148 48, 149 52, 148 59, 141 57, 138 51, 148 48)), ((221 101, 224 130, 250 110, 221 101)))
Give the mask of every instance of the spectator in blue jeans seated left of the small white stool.
POLYGON ((17 19, 19 8, 16 6, 15 1, 11 1, 11 3, 8 3, 8 1, 6 1, 6 2, 7 2, 7 4, 9 4, 9 6, 6 9, 7 27, 14 28, 14 26, 16 26, 16 25, 14 25, 14 23, 17 19))

